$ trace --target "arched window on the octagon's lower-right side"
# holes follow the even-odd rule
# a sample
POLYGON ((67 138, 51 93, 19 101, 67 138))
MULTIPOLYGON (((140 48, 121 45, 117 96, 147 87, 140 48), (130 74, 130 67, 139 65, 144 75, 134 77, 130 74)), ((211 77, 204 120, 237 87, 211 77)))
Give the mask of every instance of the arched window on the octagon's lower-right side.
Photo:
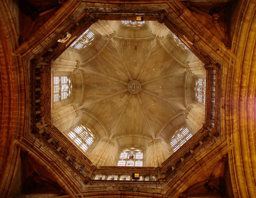
POLYGON ((192 134, 189 132, 186 126, 183 126, 177 130, 169 140, 173 151, 175 152, 178 150, 191 137, 192 134))

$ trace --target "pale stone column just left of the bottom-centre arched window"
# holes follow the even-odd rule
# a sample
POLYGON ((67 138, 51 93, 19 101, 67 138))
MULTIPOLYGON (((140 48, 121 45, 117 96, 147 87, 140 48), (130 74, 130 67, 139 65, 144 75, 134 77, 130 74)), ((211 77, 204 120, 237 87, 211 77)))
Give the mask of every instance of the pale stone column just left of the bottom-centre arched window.
POLYGON ((93 165, 97 167, 104 165, 111 151, 111 147, 115 146, 115 142, 111 141, 109 138, 102 138, 101 142, 100 148, 96 151, 93 161, 93 165))

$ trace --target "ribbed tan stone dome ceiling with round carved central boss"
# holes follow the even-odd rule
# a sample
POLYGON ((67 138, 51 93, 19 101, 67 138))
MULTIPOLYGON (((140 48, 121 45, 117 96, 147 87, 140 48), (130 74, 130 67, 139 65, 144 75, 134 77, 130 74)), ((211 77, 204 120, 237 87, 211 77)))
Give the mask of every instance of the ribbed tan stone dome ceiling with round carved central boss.
MULTIPOLYGON (((120 147, 141 148, 152 139, 170 138, 182 125, 195 128, 184 118, 191 105, 186 98, 192 101, 194 91, 194 83, 186 80, 185 63, 199 59, 176 46, 168 28, 156 21, 146 21, 139 28, 99 21, 89 29, 97 35, 89 48, 69 47, 56 60, 81 61, 83 79, 75 79, 75 90, 83 89, 77 123, 84 120, 100 138, 110 138, 120 147), (152 36, 157 28, 158 35, 152 36), (113 36, 104 39, 111 31, 113 36)), ((198 112, 204 115, 204 108, 198 112)))

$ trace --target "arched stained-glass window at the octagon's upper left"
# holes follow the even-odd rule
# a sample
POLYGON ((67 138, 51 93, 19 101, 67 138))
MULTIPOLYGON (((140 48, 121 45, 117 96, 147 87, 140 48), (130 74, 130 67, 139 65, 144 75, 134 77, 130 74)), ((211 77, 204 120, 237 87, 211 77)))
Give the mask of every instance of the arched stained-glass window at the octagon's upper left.
POLYGON ((96 38, 96 35, 92 31, 87 29, 70 46, 72 48, 82 51, 86 47, 90 46, 90 44, 92 44, 95 38, 96 38))

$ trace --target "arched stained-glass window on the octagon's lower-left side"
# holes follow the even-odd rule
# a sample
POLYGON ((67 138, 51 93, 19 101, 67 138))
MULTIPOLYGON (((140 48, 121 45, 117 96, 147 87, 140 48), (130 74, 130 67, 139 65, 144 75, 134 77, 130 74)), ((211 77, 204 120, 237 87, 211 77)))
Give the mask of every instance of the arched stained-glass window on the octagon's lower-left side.
POLYGON ((96 139, 90 128, 79 124, 67 134, 72 141, 77 144, 83 151, 86 151, 96 139))

